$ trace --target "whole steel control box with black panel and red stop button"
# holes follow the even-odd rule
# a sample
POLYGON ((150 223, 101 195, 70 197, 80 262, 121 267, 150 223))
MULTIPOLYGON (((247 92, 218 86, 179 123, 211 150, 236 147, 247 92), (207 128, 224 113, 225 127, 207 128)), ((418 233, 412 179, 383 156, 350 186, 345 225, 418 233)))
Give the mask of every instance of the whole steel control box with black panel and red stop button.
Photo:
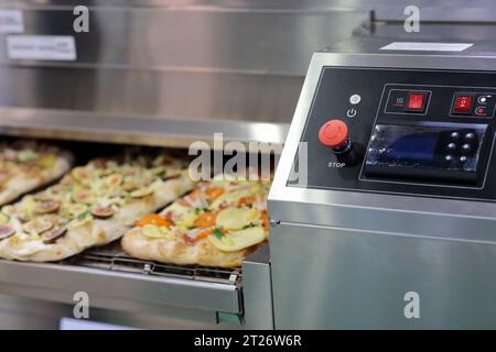
POLYGON ((494 46, 392 42, 313 56, 269 195, 277 329, 496 327, 494 46))

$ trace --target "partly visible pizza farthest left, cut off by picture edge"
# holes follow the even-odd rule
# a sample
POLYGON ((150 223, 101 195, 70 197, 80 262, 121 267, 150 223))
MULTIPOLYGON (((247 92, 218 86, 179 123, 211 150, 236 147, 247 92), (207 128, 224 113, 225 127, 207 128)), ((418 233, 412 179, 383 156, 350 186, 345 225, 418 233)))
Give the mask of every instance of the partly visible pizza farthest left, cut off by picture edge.
POLYGON ((73 160, 68 151, 35 141, 0 144, 0 206, 60 178, 73 160))

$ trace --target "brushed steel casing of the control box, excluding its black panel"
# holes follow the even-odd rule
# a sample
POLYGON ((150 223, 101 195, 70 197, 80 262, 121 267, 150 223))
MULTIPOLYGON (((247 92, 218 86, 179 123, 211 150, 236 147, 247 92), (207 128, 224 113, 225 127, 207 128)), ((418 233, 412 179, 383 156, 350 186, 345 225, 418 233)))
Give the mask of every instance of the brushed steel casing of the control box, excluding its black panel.
POLYGON ((450 55, 363 44, 313 56, 269 194, 276 328, 494 328, 494 204, 285 186, 324 66, 496 69, 484 43, 450 55), (420 319, 403 315, 407 292, 420 319))

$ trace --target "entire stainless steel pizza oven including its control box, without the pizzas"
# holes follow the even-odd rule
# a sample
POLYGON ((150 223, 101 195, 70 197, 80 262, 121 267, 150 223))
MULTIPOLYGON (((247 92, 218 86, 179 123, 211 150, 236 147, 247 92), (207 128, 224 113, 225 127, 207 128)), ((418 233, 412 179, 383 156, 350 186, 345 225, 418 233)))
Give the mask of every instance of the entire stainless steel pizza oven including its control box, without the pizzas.
POLYGON ((0 328, 496 326, 496 56, 484 24, 422 24, 411 40, 363 3, 93 1, 89 32, 75 33, 78 2, 0 1, 15 24, 0 31, 2 138, 63 143, 79 164, 129 145, 187 157, 195 141, 216 154, 230 141, 285 143, 270 248, 234 270, 140 261, 118 243, 0 261, 0 328), (73 43, 72 59, 51 45, 17 51, 24 35, 29 47, 73 43), (464 42, 380 50, 440 36, 464 42), (74 319, 80 293, 89 319, 74 319))

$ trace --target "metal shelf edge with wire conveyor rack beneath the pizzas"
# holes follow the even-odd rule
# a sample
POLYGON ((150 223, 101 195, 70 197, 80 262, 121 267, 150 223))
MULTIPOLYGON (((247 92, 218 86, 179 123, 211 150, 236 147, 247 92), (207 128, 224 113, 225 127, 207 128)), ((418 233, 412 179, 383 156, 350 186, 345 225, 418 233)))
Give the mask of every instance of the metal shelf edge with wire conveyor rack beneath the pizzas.
POLYGON ((0 261, 0 294, 74 304, 74 294, 85 292, 93 307, 140 314, 170 307, 242 311, 239 271, 162 265, 105 251, 50 264, 0 261))

